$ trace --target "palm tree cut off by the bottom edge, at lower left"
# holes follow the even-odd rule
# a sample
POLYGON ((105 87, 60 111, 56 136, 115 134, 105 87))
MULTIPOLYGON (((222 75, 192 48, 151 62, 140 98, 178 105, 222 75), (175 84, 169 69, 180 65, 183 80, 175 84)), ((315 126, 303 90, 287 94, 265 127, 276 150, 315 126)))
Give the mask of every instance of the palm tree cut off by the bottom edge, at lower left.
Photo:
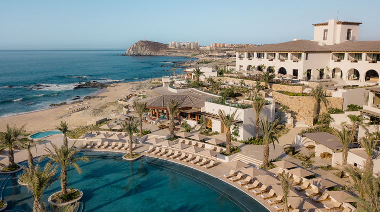
POLYGON ((27 184, 26 187, 34 197, 33 212, 46 212, 40 200, 46 189, 58 179, 59 176, 55 177, 56 168, 56 166, 46 164, 42 171, 38 164, 35 168, 25 167, 24 173, 19 176, 20 181, 27 184))

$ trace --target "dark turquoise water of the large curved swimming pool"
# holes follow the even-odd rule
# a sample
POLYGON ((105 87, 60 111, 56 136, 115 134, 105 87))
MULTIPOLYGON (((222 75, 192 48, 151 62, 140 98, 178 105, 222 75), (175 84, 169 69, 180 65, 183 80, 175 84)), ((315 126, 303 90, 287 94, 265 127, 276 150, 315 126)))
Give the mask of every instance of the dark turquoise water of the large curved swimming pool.
MULTIPOLYGON (((69 187, 84 192, 82 212, 267 212, 240 190, 179 164, 148 157, 129 163, 116 153, 80 154, 90 160, 79 163, 81 175, 70 168, 67 180, 69 187)), ((16 174, 0 177, 7 211, 31 211, 31 194, 18 186, 16 174)), ((42 202, 58 190, 59 181, 45 192, 42 202)))

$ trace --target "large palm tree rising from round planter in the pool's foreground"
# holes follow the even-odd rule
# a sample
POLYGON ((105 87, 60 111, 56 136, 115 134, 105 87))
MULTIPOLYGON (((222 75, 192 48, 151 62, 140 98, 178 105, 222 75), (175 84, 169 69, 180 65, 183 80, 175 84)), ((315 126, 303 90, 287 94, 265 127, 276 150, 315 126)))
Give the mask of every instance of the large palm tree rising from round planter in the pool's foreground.
POLYGON ((66 146, 62 145, 60 148, 58 148, 55 144, 51 143, 51 146, 53 147, 53 151, 49 148, 45 147, 45 151, 47 152, 47 155, 43 155, 39 158, 41 161, 44 158, 49 158, 50 161, 48 164, 58 164, 60 168, 62 169, 60 171, 60 186, 62 188, 63 195, 67 195, 67 167, 72 166, 74 169, 80 174, 82 173, 82 170, 80 169, 77 162, 84 161, 88 162, 88 158, 86 156, 77 156, 75 155, 80 152, 80 148, 75 149, 75 143, 72 144, 70 148, 67 148, 66 146))

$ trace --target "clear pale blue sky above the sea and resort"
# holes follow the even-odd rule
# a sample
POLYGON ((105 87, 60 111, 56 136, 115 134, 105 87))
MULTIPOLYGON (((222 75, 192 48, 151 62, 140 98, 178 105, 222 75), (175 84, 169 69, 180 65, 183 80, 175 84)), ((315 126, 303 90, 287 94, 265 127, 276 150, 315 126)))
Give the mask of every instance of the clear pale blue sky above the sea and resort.
POLYGON ((279 43, 313 39, 313 23, 363 22, 380 40, 379 0, 0 0, 0 50, 127 49, 142 40, 279 43))

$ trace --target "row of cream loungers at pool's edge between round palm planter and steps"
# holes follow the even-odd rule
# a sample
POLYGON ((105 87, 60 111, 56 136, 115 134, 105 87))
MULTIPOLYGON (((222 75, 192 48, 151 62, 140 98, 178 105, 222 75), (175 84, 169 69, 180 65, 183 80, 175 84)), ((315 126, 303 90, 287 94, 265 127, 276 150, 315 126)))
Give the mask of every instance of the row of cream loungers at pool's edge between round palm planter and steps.
POLYGON ((153 146, 150 146, 149 149, 146 150, 144 153, 152 154, 156 156, 163 156, 165 158, 170 158, 170 159, 176 159, 178 161, 182 161, 185 163, 190 162, 190 164, 195 164, 196 166, 201 166, 205 169, 209 169, 211 167, 216 166, 214 160, 207 160, 207 158, 200 159, 200 156, 194 156, 193 154, 186 155, 186 153, 184 152, 180 153, 179 151, 172 150, 172 149, 166 149, 166 148, 160 148, 160 147, 154 148, 153 146))

